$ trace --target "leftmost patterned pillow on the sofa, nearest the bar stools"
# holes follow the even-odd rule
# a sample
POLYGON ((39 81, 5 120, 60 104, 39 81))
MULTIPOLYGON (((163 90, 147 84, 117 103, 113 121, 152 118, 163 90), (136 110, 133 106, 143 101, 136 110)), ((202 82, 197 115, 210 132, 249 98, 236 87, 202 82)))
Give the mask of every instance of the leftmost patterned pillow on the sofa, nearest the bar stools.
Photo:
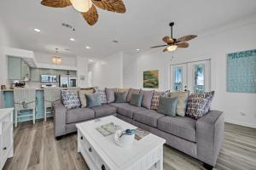
POLYGON ((80 107, 81 105, 77 90, 61 90, 61 100, 67 110, 80 107))

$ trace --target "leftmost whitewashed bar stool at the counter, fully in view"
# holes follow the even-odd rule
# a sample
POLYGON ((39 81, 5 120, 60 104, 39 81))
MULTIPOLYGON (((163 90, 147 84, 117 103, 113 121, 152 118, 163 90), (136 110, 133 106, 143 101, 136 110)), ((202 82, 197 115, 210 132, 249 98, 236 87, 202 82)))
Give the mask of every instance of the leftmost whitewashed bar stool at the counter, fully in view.
POLYGON ((15 127, 18 125, 20 117, 32 116, 33 124, 36 122, 36 89, 35 88, 15 88, 15 127), (20 115, 20 111, 32 110, 32 114, 20 115))

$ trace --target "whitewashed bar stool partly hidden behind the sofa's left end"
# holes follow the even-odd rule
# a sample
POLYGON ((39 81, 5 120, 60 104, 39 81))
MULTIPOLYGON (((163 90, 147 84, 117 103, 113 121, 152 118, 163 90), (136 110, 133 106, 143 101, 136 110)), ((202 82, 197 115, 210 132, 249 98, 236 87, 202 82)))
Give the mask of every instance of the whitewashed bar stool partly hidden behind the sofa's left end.
POLYGON ((44 88, 44 122, 47 119, 47 113, 52 113, 55 101, 61 100, 61 88, 44 88), (47 109, 50 108, 50 111, 47 109))

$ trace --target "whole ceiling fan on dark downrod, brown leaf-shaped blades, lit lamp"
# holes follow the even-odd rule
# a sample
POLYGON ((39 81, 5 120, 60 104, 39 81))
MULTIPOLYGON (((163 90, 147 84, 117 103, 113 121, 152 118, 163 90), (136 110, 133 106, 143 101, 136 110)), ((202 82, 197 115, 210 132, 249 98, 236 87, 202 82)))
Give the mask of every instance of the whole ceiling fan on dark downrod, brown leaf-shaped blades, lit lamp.
POLYGON ((174 26, 174 22, 171 22, 170 25, 171 26, 171 37, 163 37, 163 41, 166 42, 165 45, 158 45, 158 46, 154 46, 151 48, 163 48, 166 47, 163 52, 166 51, 175 51, 177 48, 188 48, 189 47, 189 40, 194 39, 195 35, 189 35, 189 36, 183 36, 183 37, 179 37, 179 38, 173 38, 172 37, 172 26, 174 26))

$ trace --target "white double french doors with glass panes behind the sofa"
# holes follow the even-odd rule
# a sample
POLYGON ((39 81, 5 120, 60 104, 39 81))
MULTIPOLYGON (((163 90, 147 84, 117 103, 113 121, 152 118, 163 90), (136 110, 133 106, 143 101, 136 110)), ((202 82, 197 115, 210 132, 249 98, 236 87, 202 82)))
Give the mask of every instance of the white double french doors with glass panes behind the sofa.
POLYGON ((211 60, 171 65, 171 90, 201 94, 211 90, 211 60))

